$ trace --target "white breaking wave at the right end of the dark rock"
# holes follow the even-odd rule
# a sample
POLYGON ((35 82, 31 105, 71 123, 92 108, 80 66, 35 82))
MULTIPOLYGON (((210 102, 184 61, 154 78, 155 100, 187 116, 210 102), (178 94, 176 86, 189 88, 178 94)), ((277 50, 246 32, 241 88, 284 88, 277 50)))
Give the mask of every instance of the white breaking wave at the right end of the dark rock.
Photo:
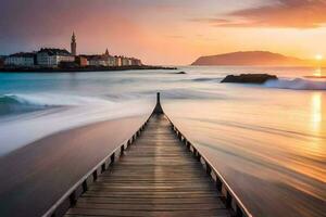
POLYGON ((326 90, 326 81, 309 80, 303 78, 269 80, 264 84, 268 88, 293 90, 326 90))

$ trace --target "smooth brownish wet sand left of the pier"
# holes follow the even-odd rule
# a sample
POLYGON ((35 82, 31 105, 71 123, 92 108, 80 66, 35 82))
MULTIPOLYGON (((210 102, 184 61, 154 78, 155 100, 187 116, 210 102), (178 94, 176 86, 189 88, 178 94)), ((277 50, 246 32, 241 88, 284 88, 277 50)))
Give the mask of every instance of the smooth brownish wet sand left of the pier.
POLYGON ((1 157, 0 216, 41 216, 79 178, 129 139, 146 118, 108 120, 59 132, 1 157))

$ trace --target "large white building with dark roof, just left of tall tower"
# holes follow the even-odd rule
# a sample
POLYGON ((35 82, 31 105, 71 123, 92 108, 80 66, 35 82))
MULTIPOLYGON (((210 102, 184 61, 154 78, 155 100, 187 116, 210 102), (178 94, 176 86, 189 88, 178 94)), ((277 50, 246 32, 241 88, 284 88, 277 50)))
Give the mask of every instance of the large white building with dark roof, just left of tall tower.
POLYGON ((61 62, 74 62, 73 56, 67 50, 62 49, 41 49, 37 52, 37 64, 45 67, 58 67, 61 62))

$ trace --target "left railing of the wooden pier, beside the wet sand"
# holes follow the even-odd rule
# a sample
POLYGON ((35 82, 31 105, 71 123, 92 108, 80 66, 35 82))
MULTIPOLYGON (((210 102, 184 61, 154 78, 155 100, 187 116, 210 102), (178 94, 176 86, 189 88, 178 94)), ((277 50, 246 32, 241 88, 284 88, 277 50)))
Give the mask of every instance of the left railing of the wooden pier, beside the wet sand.
MULTIPOLYGON (((150 116, 151 117, 151 116, 150 116)), ((145 129, 150 117, 140 126, 140 128, 131 136, 130 139, 124 141, 115 150, 113 150, 108 156, 105 156, 99 164, 90 169, 85 176, 83 176, 67 192, 61 196, 42 217, 61 217, 68 210, 70 207, 77 203, 77 199, 88 190, 89 184, 97 181, 98 176, 105 170, 110 169, 114 162, 124 154, 125 150, 131 145, 135 140, 140 136, 145 129)))

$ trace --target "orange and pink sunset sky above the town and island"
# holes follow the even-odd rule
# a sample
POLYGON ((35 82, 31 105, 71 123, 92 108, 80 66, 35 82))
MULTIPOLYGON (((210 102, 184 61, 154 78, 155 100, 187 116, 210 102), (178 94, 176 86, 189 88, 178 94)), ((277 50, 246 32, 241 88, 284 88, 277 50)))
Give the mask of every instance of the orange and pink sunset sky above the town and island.
POLYGON ((0 54, 70 49, 184 65, 263 50, 326 56, 326 0, 0 0, 0 54))

